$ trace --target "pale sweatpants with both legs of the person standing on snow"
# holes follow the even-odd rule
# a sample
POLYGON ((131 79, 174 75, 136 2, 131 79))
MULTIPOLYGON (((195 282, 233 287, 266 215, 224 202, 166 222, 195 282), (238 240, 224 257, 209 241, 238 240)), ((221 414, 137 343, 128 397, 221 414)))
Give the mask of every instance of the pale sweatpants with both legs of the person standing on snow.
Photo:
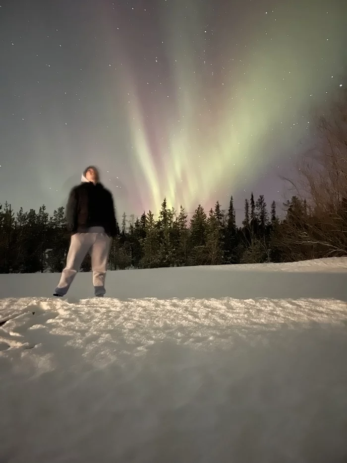
MULTIPOLYGON (((90 229, 93 230, 93 229, 90 229)), ((106 267, 110 253, 111 238, 106 233, 75 233, 71 236, 66 266, 63 269, 55 293, 64 296, 83 259, 90 252, 92 258, 94 294, 103 296, 105 290, 106 267)))

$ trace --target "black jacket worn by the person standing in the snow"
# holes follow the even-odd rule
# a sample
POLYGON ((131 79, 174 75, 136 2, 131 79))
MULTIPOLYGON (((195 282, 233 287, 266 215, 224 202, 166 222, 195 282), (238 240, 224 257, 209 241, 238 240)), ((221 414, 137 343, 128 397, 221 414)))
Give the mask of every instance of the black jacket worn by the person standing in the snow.
POLYGON ((67 201, 66 222, 72 234, 87 232, 89 227, 104 227, 105 233, 115 237, 116 213, 111 192, 101 183, 83 182, 74 187, 67 201))

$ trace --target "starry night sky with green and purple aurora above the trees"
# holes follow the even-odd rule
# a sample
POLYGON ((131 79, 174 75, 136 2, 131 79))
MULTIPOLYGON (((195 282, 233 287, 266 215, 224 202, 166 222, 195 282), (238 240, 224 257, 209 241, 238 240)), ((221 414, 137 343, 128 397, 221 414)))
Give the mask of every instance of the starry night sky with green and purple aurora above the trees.
POLYGON ((345 88, 346 3, 3 1, 0 203, 53 212, 96 164, 118 219, 164 196, 281 204, 312 111, 345 88))

